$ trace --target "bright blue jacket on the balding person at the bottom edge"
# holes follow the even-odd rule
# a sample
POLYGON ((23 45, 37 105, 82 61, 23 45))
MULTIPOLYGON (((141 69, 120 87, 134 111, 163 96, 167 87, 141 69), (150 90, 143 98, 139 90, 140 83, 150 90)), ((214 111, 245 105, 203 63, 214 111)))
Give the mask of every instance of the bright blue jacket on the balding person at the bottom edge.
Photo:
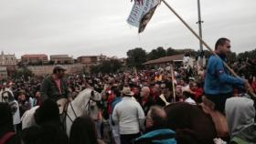
POLYGON ((135 139, 135 144, 176 144, 176 132, 171 129, 157 129, 135 139))

